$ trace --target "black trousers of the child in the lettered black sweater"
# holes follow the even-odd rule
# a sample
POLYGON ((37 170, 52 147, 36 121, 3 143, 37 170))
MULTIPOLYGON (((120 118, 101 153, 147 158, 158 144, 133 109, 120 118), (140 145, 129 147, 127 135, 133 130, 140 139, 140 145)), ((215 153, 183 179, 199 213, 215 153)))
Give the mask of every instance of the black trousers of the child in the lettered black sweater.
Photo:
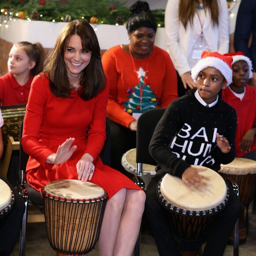
MULTIPOLYGON (((151 232, 156 241, 158 253, 160 256, 179 256, 174 234, 170 229, 169 212, 158 201, 156 195, 156 187, 158 181, 165 175, 159 170, 152 177, 146 191, 145 213, 151 228, 151 232)), ((237 195, 233 192, 232 186, 227 183, 230 188, 229 201, 218 215, 215 226, 206 237, 206 246, 203 251, 204 256, 222 256, 230 233, 242 210, 242 203, 238 200, 237 195)))

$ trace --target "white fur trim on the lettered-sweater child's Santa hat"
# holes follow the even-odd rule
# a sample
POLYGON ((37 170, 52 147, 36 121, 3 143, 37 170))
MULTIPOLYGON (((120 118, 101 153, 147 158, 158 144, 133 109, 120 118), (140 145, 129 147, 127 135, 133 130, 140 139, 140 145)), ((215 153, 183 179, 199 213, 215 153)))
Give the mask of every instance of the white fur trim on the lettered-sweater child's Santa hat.
POLYGON ((197 62, 197 64, 191 70, 191 76, 195 83, 197 81, 199 72, 208 67, 218 69, 218 71, 221 72, 225 77, 227 86, 232 83, 232 69, 225 61, 217 57, 206 57, 197 62))

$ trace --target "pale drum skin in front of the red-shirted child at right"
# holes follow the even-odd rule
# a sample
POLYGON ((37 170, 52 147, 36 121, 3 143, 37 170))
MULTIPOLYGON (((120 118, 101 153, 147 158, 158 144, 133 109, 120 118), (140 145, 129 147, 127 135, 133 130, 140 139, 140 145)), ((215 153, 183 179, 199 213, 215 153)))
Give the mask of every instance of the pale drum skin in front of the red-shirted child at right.
POLYGON ((246 175, 256 174, 256 161, 247 158, 235 158, 231 163, 220 166, 220 173, 246 175))

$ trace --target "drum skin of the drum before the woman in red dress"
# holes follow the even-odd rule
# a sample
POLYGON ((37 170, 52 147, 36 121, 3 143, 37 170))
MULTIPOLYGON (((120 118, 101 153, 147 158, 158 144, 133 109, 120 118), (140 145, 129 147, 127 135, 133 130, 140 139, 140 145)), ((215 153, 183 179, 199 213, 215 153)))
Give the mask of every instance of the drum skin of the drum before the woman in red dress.
POLYGON ((91 182, 79 180, 57 180, 45 186, 45 192, 59 197, 70 199, 91 199, 104 195, 105 191, 100 186, 91 182))

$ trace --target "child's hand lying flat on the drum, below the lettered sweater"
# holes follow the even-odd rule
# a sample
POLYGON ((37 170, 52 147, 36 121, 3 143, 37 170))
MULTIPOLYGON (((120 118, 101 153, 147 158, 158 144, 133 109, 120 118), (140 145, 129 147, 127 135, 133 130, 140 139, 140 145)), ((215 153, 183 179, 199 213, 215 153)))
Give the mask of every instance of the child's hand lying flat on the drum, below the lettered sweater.
POLYGON ((188 186, 189 189, 192 189, 193 185, 197 189, 202 189, 207 187, 207 184, 203 180, 209 180, 208 177, 199 175, 198 173, 206 171, 207 168, 194 168, 192 166, 185 169, 184 173, 181 176, 182 181, 188 186))

